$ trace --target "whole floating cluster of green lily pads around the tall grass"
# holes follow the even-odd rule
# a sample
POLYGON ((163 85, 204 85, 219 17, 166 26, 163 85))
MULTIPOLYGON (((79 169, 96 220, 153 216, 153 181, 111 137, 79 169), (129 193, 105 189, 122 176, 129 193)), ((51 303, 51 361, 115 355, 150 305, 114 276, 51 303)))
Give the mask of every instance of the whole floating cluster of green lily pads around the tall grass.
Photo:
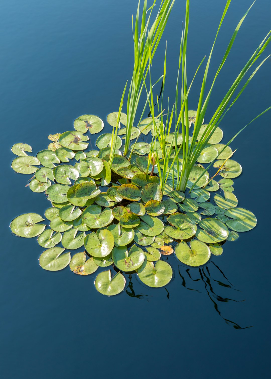
MULTIPOLYGON (((189 111, 191 129, 195 115, 196 111, 189 111)), ((95 279, 96 289, 108 296, 123 291, 125 273, 136 274, 149 287, 165 286, 173 276, 174 260, 169 263, 168 255, 188 266, 204 265, 212 254, 222 254, 225 241, 235 241, 239 232, 257 223, 253 213, 238 207, 232 179, 242 168, 235 160, 225 162, 232 153, 230 147, 220 153, 225 147, 220 143, 220 128, 192 168, 185 193, 173 189, 174 167, 162 193, 157 167, 148 167, 151 146, 138 141, 142 134, 154 134, 151 120, 133 127, 135 142, 131 141, 129 157, 124 157, 126 115, 121 114, 119 125, 117 116, 117 112, 107 116, 108 124, 118 127, 111 167, 112 133, 102 133, 104 122, 90 114, 78 117, 74 130, 49 135, 52 142, 36 156, 28 155, 32 147, 24 143, 11 149, 17 155, 13 170, 32 174, 29 188, 44 192, 50 202, 44 214, 47 221, 36 213, 20 215, 10 224, 12 232, 37 237, 45 249, 39 257, 45 270, 69 266, 73 273, 85 276, 109 268, 95 279), (96 133, 99 136, 94 139, 96 133), (202 175, 203 164, 215 158, 213 167, 221 168, 220 180, 210 180, 208 172, 202 175), (75 250, 79 252, 71 255, 75 250)), ((168 139, 170 144, 172 137, 168 139)), ((179 138, 175 148, 181 143, 179 138)))

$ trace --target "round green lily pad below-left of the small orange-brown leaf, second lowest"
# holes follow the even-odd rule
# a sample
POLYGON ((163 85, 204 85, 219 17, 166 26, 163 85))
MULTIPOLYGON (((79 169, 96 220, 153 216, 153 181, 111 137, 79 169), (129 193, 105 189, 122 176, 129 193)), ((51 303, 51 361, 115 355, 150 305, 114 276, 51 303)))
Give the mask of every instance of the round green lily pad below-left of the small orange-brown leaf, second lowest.
POLYGON ((172 279, 173 271, 171 266, 162 260, 158 260, 154 266, 153 262, 144 261, 137 270, 139 279, 149 287, 163 287, 172 279))

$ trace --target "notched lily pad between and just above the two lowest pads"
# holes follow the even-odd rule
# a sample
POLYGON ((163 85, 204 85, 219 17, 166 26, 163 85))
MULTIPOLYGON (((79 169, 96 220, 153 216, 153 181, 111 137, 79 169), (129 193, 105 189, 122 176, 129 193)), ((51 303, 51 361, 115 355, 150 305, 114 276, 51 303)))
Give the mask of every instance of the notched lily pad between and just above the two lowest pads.
POLYGON ((116 246, 112 251, 115 266, 124 272, 137 270, 145 259, 143 250, 135 244, 127 250, 126 246, 116 246))

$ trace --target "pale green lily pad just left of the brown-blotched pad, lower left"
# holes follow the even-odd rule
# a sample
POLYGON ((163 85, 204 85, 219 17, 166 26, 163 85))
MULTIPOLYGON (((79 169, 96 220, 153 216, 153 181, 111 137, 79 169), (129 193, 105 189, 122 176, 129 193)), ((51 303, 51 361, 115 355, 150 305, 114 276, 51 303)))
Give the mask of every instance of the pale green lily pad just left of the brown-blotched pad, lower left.
POLYGON ((62 254, 62 247, 51 247, 44 251, 39 257, 39 265, 48 271, 59 271, 68 266, 71 260, 71 254, 62 254))

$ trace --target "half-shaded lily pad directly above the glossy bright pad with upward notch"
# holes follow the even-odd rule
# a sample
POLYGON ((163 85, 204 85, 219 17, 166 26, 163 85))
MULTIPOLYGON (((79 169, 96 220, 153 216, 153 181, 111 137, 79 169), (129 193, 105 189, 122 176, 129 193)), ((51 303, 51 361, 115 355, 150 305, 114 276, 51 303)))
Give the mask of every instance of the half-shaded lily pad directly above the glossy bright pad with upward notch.
MULTIPOLYGON (((112 209, 104 208, 103 211, 100 205, 90 205, 84 209, 82 220, 93 229, 103 228, 113 221, 112 209)), ((92 254, 91 254, 92 255, 92 254)))

